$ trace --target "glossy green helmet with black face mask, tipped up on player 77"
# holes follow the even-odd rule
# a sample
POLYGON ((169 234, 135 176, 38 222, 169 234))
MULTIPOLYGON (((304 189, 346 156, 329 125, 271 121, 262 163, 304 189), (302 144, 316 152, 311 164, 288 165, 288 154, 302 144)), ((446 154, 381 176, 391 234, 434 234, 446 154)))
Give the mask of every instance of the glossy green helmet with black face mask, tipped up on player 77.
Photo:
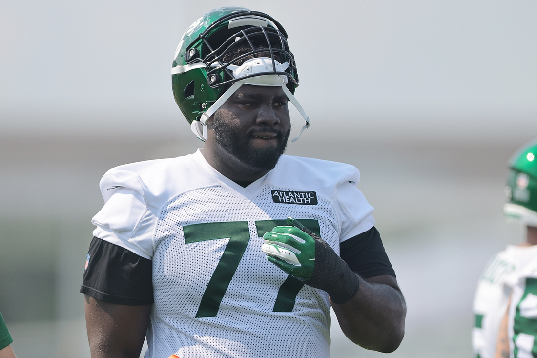
POLYGON ((272 17, 245 8, 218 8, 196 20, 179 41, 172 63, 175 102, 192 132, 207 139, 207 120, 242 84, 281 87, 294 97, 299 85, 287 33, 272 17))

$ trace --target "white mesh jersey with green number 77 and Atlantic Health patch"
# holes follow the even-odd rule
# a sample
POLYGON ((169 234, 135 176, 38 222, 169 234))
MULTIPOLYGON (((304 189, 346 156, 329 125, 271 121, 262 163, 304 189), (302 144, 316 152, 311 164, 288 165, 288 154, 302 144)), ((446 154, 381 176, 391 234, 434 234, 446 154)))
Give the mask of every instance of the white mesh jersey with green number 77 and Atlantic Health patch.
POLYGON ((243 188, 199 151, 108 171, 93 235, 153 260, 146 358, 328 357, 328 294, 267 261, 262 237, 291 216, 339 253, 374 225, 358 182, 348 164, 284 155, 243 188))

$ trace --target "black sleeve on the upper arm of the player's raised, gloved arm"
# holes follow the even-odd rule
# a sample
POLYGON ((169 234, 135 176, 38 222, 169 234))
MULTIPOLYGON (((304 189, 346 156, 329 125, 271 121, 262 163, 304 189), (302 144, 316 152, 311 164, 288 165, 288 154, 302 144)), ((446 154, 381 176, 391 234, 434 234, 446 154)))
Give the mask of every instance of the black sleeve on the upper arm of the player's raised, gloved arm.
POLYGON ((339 256, 362 278, 395 276, 376 227, 339 244, 339 256))

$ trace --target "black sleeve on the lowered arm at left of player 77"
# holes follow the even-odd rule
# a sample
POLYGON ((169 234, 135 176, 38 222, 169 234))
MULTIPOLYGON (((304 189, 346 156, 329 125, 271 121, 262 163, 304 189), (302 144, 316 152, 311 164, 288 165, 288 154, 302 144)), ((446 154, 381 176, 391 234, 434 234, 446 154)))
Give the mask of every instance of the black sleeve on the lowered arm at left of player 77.
POLYGON ((80 292, 110 303, 153 303, 153 262, 110 242, 93 238, 80 292))

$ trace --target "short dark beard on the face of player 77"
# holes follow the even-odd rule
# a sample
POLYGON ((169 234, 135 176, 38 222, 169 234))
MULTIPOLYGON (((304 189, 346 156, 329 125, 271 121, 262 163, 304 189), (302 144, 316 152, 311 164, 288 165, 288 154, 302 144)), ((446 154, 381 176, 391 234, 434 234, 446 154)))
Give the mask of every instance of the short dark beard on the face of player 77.
MULTIPOLYGON (((243 140, 237 131, 224 120, 214 118, 214 136, 217 147, 221 147, 231 156, 235 157, 244 166, 253 170, 272 170, 284 154, 287 139, 291 134, 291 127, 287 133, 278 132, 278 144, 275 147, 253 148, 248 140, 243 140)), ((264 133, 266 131, 264 130, 264 133)))

